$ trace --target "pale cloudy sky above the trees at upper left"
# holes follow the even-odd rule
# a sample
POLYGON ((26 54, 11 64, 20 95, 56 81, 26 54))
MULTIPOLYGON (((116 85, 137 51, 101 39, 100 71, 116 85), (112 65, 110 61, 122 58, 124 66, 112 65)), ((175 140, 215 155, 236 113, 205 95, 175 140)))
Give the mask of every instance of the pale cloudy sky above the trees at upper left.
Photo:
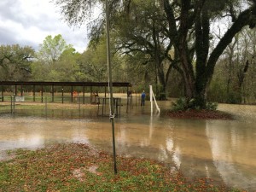
POLYGON ((0 0, 0 44, 29 45, 38 50, 46 36, 58 34, 77 51, 86 49, 86 27, 68 26, 49 0, 0 0))

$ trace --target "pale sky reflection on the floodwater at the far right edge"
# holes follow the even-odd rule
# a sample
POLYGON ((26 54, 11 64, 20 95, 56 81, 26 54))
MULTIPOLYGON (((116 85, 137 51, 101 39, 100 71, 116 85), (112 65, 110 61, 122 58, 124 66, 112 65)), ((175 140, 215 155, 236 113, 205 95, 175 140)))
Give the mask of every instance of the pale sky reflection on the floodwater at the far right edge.
POLYGON ((253 158, 253 146, 256 146, 256 142, 251 136, 251 131, 248 131, 252 125, 233 124, 232 121, 218 123, 219 126, 208 123, 206 131, 207 137, 211 137, 209 143, 214 166, 224 183, 231 186, 239 184, 240 188, 249 191, 256 189, 253 158))

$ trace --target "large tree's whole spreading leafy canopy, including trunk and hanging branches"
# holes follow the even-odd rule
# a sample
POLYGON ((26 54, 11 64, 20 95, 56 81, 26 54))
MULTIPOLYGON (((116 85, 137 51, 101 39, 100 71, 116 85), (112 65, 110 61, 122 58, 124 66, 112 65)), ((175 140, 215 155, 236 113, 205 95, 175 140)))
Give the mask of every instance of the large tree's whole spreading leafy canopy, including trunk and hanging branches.
MULTIPOLYGON (((54 2, 61 7, 64 18, 74 25, 84 22, 86 16, 91 15, 93 6, 104 3, 74 0, 54 2)), ((207 87, 219 56, 244 26, 253 28, 256 23, 256 3, 253 0, 109 2, 112 32, 118 32, 119 49, 127 54, 140 51, 149 55, 157 67, 163 87, 166 87, 163 64, 169 61, 169 67, 176 67, 183 78, 188 108, 206 107, 207 87), (221 18, 231 20, 232 25, 219 38, 218 44, 212 45, 212 23, 221 18), (175 57, 169 54, 172 49, 175 57)), ((104 24, 97 22, 94 26, 99 25, 104 24)), ((94 26, 91 29, 102 28, 94 26)), ((167 68, 168 71, 170 69, 167 68)))

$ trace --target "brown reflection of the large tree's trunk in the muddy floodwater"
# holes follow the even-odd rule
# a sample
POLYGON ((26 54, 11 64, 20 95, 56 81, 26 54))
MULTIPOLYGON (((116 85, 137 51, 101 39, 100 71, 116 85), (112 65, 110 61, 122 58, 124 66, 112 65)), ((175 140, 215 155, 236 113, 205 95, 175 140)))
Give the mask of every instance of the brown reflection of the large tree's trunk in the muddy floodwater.
POLYGON ((166 140, 167 158, 172 159, 189 179, 211 177, 222 182, 212 163, 212 152, 205 135, 206 121, 182 120, 177 123, 179 125, 173 129, 172 138, 166 140))

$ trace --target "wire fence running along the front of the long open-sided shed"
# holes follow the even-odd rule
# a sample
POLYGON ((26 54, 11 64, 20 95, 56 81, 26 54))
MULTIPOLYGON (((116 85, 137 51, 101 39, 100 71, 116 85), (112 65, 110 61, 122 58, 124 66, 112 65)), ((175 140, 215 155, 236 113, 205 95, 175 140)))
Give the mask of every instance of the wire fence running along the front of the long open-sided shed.
MULTIPOLYGON (((113 113, 121 116, 139 106, 140 95, 125 94, 113 98, 113 113)), ((0 115, 36 115, 42 117, 109 116, 109 97, 101 96, 0 96, 0 115)))

